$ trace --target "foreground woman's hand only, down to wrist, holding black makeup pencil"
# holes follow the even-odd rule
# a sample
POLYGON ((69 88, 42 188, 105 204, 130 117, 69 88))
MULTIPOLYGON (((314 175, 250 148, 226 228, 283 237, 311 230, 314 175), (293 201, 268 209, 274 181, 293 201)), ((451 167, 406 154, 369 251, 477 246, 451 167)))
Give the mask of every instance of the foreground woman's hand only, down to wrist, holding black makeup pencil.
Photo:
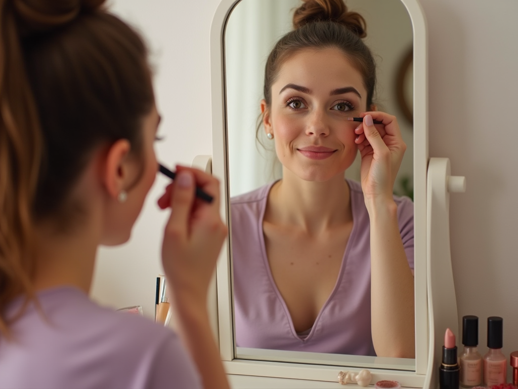
POLYGON ((197 169, 177 166, 177 176, 159 199, 171 207, 164 231, 162 264, 175 300, 202 304, 227 234, 220 217, 219 181, 197 169), (195 186, 214 197, 209 204, 195 197, 195 186))

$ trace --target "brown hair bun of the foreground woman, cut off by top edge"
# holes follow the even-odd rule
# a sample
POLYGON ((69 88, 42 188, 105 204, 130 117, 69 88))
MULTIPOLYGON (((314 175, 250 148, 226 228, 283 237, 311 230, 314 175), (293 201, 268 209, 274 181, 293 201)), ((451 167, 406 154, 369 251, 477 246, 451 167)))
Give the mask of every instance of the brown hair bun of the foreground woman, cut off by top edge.
POLYGON ((22 35, 49 31, 80 13, 100 8, 105 0, 13 0, 22 35))

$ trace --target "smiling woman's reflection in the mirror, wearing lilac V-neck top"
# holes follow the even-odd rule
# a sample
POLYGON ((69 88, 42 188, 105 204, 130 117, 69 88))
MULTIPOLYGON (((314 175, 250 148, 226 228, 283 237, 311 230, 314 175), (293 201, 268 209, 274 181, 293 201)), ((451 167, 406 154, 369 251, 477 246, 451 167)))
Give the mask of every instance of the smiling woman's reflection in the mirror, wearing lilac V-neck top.
POLYGON ((237 345, 411 358, 413 204, 393 196, 406 145, 373 104, 365 22, 307 0, 293 25, 261 103, 282 179, 232 199, 237 345), (361 183, 343 178, 358 150, 361 183))

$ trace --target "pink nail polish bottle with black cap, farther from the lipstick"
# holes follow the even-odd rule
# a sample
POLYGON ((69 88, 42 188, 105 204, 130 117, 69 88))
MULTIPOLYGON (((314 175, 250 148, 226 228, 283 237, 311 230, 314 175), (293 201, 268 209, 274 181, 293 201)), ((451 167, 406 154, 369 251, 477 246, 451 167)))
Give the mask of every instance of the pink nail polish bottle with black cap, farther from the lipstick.
POLYGON ((484 384, 486 386, 506 383, 507 359, 502 354, 503 319, 498 316, 487 318, 487 347, 484 355, 484 384))

